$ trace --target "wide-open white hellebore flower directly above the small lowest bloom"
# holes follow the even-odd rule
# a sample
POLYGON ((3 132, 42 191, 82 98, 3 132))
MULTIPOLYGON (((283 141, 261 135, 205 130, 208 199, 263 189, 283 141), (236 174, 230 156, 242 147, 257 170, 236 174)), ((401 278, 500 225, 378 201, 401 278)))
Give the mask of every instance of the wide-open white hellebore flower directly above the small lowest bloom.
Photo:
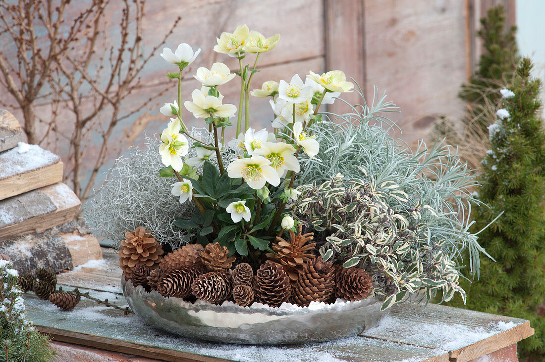
POLYGON ((280 184, 280 177, 271 162, 263 156, 252 156, 251 158, 238 158, 229 163, 227 175, 232 179, 242 177, 251 188, 258 190, 269 182, 272 186, 280 184))

